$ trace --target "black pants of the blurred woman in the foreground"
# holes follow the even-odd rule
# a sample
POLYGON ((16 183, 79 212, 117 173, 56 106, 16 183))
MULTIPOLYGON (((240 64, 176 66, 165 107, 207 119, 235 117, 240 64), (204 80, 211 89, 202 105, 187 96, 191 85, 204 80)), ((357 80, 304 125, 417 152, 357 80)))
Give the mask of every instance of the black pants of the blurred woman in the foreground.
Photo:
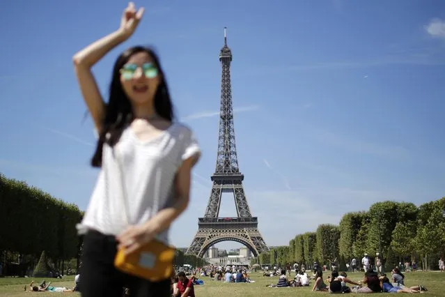
POLYGON ((130 296, 171 296, 171 280, 150 282, 121 273, 114 267, 117 242, 114 236, 88 231, 84 237, 81 256, 80 291, 82 297, 121 297, 123 287, 130 289, 130 296))

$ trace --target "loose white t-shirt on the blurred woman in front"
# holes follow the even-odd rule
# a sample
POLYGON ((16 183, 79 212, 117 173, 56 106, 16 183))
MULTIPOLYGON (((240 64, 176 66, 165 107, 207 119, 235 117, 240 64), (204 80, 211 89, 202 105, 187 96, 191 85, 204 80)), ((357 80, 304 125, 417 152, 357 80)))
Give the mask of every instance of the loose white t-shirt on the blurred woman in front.
MULTIPOLYGON (((127 216, 130 224, 147 222, 173 204, 178 168, 200 153, 192 130, 180 123, 147 141, 139 139, 130 126, 125 128, 114 148, 103 146, 102 168, 84 219, 77 226, 79 234, 94 229, 117 236, 127 228, 127 216)), ((169 230, 157 239, 168 243, 169 230)))

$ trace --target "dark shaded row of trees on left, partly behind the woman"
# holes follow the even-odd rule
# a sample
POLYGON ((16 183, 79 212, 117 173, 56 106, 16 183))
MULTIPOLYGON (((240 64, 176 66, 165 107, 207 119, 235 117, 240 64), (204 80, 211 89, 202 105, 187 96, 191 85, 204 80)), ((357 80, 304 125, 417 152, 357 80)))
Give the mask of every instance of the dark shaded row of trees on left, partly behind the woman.
MULTIPOLYGON (((76 224, 84 213, 75 204, 0 174, 0 205, 0 263, 23 261, 34 266, 41 262, 45 265, 36 269, 46 271, 47 259, 61 270, 63 261, 79 259, 82 244, 76 224)), ((199 267, 205 263, 177 250, 175 265, 184 264, 199 267)))

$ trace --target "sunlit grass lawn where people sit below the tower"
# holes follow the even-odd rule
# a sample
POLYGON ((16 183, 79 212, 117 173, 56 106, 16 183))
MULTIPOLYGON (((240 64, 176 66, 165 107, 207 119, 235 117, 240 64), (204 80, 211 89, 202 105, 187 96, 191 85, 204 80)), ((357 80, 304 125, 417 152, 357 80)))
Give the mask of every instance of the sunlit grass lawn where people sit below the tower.
MULTIPOLYGON (((327 277, 329 272, 323 275, 327 277)), ((362 273, 350 273, 348 277, 352 280, 360 280, 362 273)), ((314 296, 314 294, 327 294, 320 292, 312 292, 311 287, 299 287, 299 288, 268 288, 267 284, 276 284, 278 277, 263 277, 259 273, 252 273, 251 279, 255 280, 255 283, 247 284, 233 284, 224 282, 215 282, 208 277, 203 277, 205 284, 202 286, 196 286, 196 296, 203 297, 259 297, 259 296, 314 296)), ((34 282, 40 283, 42 279, 36 278, 34 282)), ((77 293, 57 293, 57 292, 30 292, 24 291, 24 286, 28 289, 30 278, 0 278, 0 296, 54 296, 55 294, 79 296, 77 293)), ((48 279, 47 279, 48 282, 48 279)), ((64 280, 52 280, 55 287, 68 287, 72 288, 74 285, 74 276, 68 276, 64 280)), ((428 288, 428 292, 423 296, 445 296, 445 273, 439 272, 416 272, 406 273, 405 284, 407 286, 416 286, 423 284, 428 288)), ((354 296, 355 294, 348 294, 348 296, 354 296)), ((380 294, 388 295, 388 294, 380 294)))

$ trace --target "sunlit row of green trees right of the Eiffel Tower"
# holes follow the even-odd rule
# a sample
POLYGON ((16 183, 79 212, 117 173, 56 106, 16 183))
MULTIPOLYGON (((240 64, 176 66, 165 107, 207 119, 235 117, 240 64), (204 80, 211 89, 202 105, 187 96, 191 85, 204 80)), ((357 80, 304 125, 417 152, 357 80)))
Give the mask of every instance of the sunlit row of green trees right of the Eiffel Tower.
POLYGON ((430 261, 445 252, 445 197, 417 207, 412 203, 383 201, 368 211, 346 213, 338 226, 320 224, 315 232, 298 234, 288 246, 260 254, 259 264, 297 261, 311 265, 313 261, 327 264, 336 257, 341 268, 354 257, 380 252, 388 267, 399 261, 421 261, 430 268, 430 261))

